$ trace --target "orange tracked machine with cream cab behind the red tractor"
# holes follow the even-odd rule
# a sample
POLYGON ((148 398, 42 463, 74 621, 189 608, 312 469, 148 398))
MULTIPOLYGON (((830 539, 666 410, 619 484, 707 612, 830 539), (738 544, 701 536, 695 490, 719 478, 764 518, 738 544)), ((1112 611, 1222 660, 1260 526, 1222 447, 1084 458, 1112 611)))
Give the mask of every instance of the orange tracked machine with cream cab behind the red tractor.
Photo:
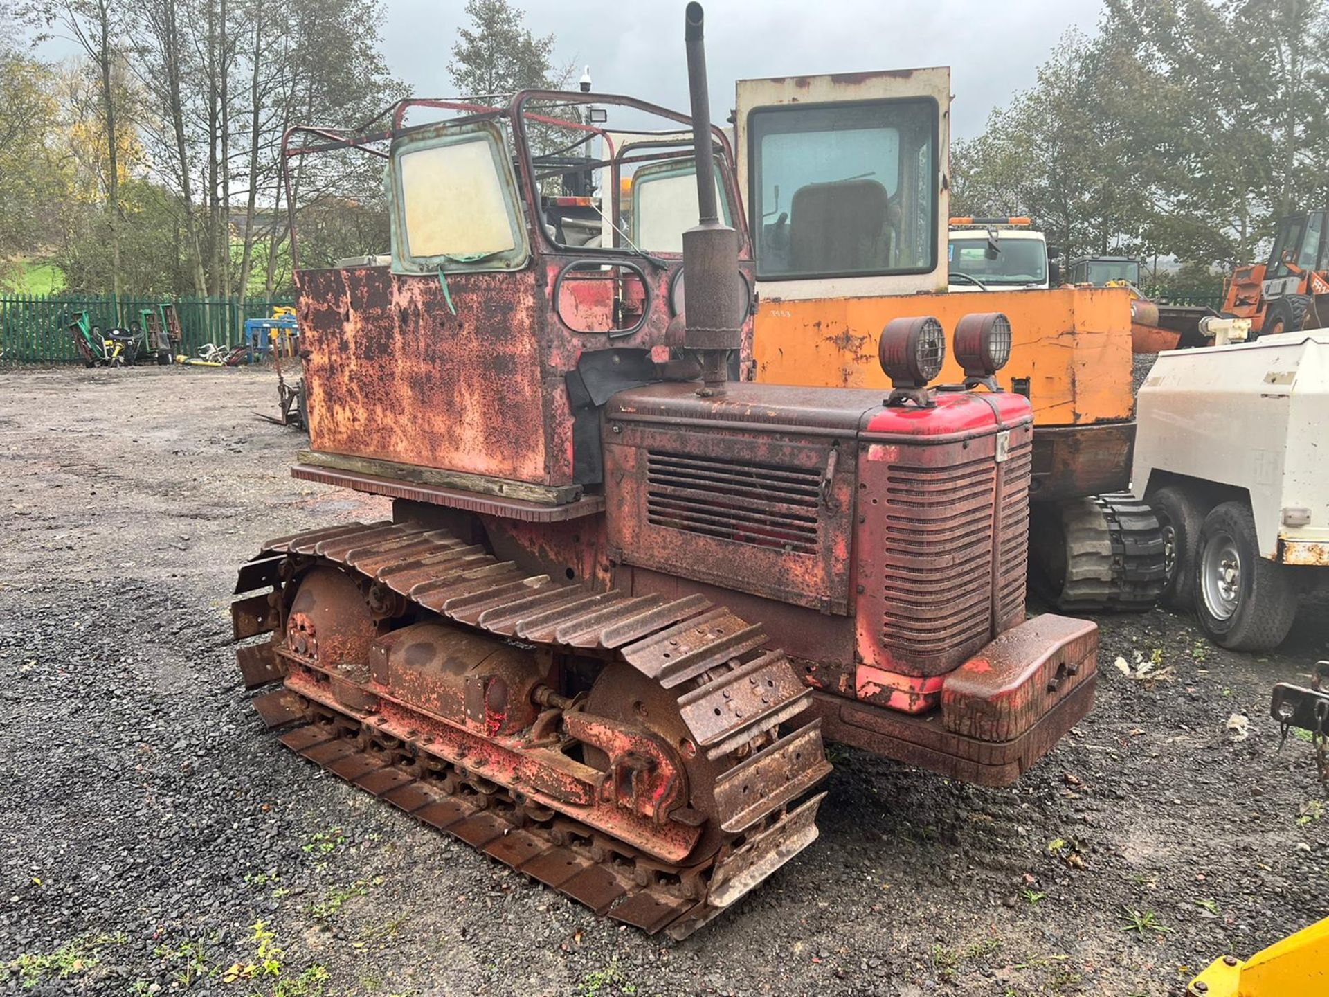
MULTIPOLYGON (((1007 315, 1014 347, 999 382, 1034 409, 1037 588, 1061 610, 1150 609, 1162 537, 1124 491, 1135 298, 1124 287, 948 292, 949 116, 948 68, 738 81, 755 379, 884 387, 869 330, 920 312, 945 324, 1007 315)), ((954 360, 942 368, 961 375, 954 360)))

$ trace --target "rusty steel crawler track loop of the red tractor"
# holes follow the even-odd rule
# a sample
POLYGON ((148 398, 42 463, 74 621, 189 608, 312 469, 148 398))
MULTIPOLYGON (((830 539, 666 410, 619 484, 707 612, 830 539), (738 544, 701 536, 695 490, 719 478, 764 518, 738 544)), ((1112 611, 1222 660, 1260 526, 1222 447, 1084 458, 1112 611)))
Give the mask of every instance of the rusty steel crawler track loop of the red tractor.
POLYGON ((779 724, 808 705, 809 690, 781 651, 763 650, 759 626, 700 596, 597 593, 532 576, 447 532, 391 522, 268 541, 241 569, 235 590, 268 585, 271 593, 241 598, 231 611, 238 639, 276 631, 242 646, 237 658, 247 689, 284 679, 254 699, 264 723, 284 731, 282 743, 598 915, 686 937, 816 839, 824 794, 796 802, 831 770, 820 726, 779 736, 779 724), (401 723, 399 714, 355 709, 304 681, 314 671, 286 646, 282 626, 288 592, 318 565, 359 576, 371 605, 400 598, 416 611, 522 646, 619 661, 657 683, 676 703, 696 751, 722 770, 714 814, 682 807, 668 820, 714 820, 723 835, 719 849, 702 861, 662 861, 641 841, 595 826, 603 808, 485 779, 464 751, 431 734, 456 732, 448 728, 455 720, 420 713, 413 724, 401 723))

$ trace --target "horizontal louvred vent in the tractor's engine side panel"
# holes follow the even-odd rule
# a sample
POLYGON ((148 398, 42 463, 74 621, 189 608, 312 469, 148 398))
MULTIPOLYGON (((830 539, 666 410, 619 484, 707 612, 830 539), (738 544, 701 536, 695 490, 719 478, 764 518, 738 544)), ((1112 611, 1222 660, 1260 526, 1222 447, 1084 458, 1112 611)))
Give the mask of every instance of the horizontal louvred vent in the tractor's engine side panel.
POLYGON ((647 451, 655 526, 796 554, 819 552, 821 471, 647 451))

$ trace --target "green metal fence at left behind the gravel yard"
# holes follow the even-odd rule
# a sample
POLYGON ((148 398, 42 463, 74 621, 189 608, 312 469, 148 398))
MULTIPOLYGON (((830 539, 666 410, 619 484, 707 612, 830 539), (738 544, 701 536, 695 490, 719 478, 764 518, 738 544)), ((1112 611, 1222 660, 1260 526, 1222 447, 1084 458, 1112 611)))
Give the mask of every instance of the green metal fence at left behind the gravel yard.
POLYGON ((245 319, 263 319, 274 306, 292 304, 290 296, 245 302, 226 298, 114 298, 80 295, 0 295, 0 360, 7 363, 74 362, 78 354, 69 332, 73 314, 86 311, 101 328, 128 328, 140 311, 174 304, 179 316, 181 352, 190 356, 205 343, 238 344, 245 319))

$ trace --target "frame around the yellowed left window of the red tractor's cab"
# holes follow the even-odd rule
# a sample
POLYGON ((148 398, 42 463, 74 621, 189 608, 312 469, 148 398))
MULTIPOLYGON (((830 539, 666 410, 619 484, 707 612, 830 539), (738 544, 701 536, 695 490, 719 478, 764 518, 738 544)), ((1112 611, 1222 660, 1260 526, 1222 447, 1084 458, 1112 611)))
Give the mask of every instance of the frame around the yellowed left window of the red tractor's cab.
POLYGON ((512 157, 506 152, 502 130, 492 121, 444 121, 436 125, 412 129, 408 134, 393 140, 389 149, 388 198, 392 209, 392 273, 405 277, 427 274, 476 274, 521 270, 530 261, 530 239, 526 231, 521 199, 517 195, 517 177, 512 167, 512 157), (401 182, 401 157, 412 152, 424 152, 449 145, 484 142, 494 164, 498 189, 502 194, 508 227, 513 247, 485 255, 473 262, 459 261, 448 254, 417 257, 411 254, 407 235, 405 198, 401 182))

